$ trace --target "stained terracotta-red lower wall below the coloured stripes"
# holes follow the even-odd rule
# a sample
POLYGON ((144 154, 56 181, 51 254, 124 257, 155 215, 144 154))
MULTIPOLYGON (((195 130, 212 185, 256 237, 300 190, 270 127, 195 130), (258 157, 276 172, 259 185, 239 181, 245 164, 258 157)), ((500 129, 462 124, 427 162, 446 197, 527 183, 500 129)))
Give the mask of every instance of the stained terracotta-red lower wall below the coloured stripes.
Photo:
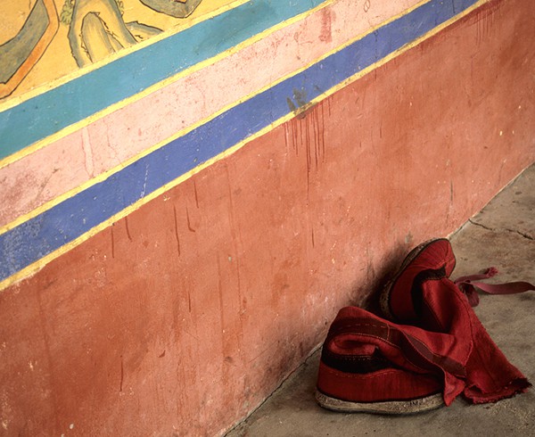
POLYGON ((534 40, 491 3, 0 293, 5 433, 233 425, 535 160, 534 40))

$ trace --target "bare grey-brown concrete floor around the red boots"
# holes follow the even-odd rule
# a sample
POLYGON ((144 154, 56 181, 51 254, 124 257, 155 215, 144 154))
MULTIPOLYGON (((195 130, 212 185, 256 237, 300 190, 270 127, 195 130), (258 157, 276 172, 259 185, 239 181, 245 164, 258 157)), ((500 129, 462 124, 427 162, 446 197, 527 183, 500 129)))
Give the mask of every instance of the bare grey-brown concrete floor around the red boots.
MULTIPOLYGON (((490 266, 494 282, 535 284, 535 165, 451 235, 453 278, 490 266)), ((475 312, 506 357, 535 383, 535 292, 481 295, 475 312)), ((472 406, 462 397, 449 408, 416 416, 342 414, 314 400, 319 350, 228 437, 269 436, 535 436, 535 388, 495 404, 472 406)))

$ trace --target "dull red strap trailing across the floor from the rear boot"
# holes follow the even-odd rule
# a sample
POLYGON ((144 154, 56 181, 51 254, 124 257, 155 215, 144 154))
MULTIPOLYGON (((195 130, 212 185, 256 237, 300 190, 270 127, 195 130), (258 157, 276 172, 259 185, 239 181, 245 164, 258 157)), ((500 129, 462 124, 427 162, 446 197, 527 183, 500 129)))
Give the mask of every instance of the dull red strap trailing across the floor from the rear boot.
POLYGON ((480 281, 481 279, 488 279, 492 276, 498 275, 498 268, 487 268, 485 273, 480 275, 460 276, 454 281, 459 289, 465 293, 470 305, 476 307, 479 303, 479 295, 475 288, 479 288, 482 292, 489 294, 517 294, 524 293, 530 290, 535 290, 535 285, 529 282, 509 282, 505 284, 486 284, 480 281))

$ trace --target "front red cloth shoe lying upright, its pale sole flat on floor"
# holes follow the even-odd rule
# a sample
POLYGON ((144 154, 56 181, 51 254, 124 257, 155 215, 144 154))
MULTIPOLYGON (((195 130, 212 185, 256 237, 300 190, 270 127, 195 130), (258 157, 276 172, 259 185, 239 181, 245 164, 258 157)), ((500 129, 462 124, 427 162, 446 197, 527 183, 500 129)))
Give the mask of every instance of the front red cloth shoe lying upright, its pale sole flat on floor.
POLYGON ((322 350, 319 405, 382 414, 412 414, 442 406, 443 383, 417 351, 420 345, 399 326, 365 309, 341 309, 322 350))

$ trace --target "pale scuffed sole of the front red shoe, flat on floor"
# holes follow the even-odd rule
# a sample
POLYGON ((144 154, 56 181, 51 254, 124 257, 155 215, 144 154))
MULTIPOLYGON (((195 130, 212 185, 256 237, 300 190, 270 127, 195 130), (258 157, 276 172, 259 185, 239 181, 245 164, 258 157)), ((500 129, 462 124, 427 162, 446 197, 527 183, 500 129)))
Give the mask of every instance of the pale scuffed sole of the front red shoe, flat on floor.
POLYGON ((371 413, 384 415, 413 415, 443 407, 441 393, 435 393, 416 400, 385 400, 381 402, 352 402, 331 398, 316 391, 317 403, 332 411, 342 413, 371 413))

